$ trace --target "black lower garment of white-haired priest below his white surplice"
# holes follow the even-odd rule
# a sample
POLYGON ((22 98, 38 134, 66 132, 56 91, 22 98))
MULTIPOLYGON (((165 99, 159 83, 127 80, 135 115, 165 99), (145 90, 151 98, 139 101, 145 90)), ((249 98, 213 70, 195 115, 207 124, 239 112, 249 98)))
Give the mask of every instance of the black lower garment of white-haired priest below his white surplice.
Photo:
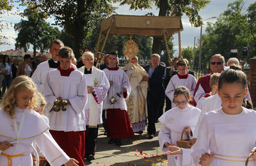
POLYGON ((89 128, 88 126, 86 126, 84 157, 86 157, 87 155, 95 154, 97 137, 98 137, 98 129, 99 129, 99 126, 97 126, 97 128, 89 128))

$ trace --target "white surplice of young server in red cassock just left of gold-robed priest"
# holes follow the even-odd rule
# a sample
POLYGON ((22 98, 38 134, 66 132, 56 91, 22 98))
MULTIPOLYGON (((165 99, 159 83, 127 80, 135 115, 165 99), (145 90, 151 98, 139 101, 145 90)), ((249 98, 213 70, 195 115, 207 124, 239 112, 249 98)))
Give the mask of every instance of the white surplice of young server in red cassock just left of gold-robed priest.
POLYGON ((105 72, 108 80, 113 81, 113 85, 109 87, 108 95, 104 99, 103 109, 127 110, 125 99, 128 99, 129 94, 131 93, 131 85, 127 74, 121 68, 118 68, 118 70, 108 70, 108 68, 105 68, 103 72, 105 72), (123 91, 123 87, 127 90, 127 97, 124 98, 124 95, 121 94, 121 97, 119 98, 116 96, 116 93, 123 91), (114 104, 109 103, 112 96, 115 96, 116 99, 118 99, 114 104))

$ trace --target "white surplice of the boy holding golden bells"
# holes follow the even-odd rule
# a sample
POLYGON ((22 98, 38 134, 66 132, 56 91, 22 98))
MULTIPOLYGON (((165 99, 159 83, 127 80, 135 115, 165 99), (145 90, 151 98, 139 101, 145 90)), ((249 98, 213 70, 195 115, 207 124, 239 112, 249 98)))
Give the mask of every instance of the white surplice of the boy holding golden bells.
POLYGON ((87 100, 87 86, 82 72, 74 70, 69 77, 65 77, 61 76, 60 70, 51 70, 47 73, 44 95, 47 100, 47 110, 52 109, 54 100, 59 96, 71 103, 67 105, 66 111, 49 112, 51 130, 77 132, 86 129, 84 107, 87 100))

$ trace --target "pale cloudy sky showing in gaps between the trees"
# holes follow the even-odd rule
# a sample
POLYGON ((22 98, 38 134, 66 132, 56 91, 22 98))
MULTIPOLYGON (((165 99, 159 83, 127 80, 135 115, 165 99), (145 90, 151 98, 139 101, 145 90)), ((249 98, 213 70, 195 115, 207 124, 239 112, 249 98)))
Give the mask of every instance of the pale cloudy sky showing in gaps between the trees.
MULTIPOLYGON (((201 15, 203 20, 209 19, 207 21, 204 21, 204 25, 206 25, 206 22, 216 22, 216 19, 210 19, 211 17, 219 17, 223 11, 227 10, 227 6, 229 3, 234 2, 234 0, 212 0, 211 3, 209 3, 204 9, 200 10, 199 14, 201 15)), ((246 13, 246 9, 250 4, 254 3, 253 0, 244 0, 244 8, 242 10, 242 13, 246 13)), ((122 14, 122 15, 145 15, 146 13, 152 12, 154 15, 158 15, 159 10, 156 8, 153 8, 152 10, 129 10, 129 6, 119 6, 118 4, 113 4, 113 6, 118 7, 116 10, 116 13, 122 14)), ((8 13, 4 15, 0 15, 3 20, 3 22, 7 23, 17 23, 20 22, 21 17, 19 15, 10 15, 8 13)), ((47 22, 54 22, 52 18, 47 19, 47 22)), ((193 47, 194 46, 194 38, 196 37, 196 41, 200 39, 200 27, 193 27, 191 26, 188 18, 184 15, 182 16, 182 25, 183 25, 183 31, 181 32, 181 47, 193 47)), ((202 34, 205 33, 205 26, 202 27, 203 31, 202 34)), ((13 27, 10 27, 9 29, 3 29, 3 32, 1 35, 10 36, 10 39, 7 41, 10 43, 10 45, 0 45, 0 52, 3 50, 8 49, 15 49, 15 38, 17 37, 17 32, 14 31, 13 27)), ((178 43, 178 34, 173 35, 173 43, 174 47, 177 50, 179 47, 178 43)), ((4 41, 4 40, 2 40, 4 41)), ((6 40, 5 40, 6 41, 6 40)), ((32 50, 32 47, 29 49, 32 50)), ((175 54, 178 54, 176 51, 175 54)), ((177 56, 177 55, 175 55, 177 56)))

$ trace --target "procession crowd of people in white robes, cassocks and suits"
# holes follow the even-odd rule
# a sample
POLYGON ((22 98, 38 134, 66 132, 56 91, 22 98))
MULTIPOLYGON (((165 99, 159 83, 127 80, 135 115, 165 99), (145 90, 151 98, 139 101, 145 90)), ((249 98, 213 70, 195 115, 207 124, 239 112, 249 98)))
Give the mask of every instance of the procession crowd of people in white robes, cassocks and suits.
POLYGON ((146 126, 148 139, 156 137, 158 121, 168 165, 241 165, 250 153, 248 165, 255 165, 256 112, 238 59, 225 66, 223 56, 212 56, 211 73, 197 81, 187 59, 166 67, 152 54, 147 66, 131 57, 120 68, 110 52, 97 68, 90 48, 78 61, 60 40, 49 51, 52 59, 42 63, 28 54, 14 59, 15 73, 3 56, 0 165, 33 165, 31 153, 50 165, 84 165, 95 160, 100 124, 108 144, 122 146, 146 126), (190 139, 186 148, 177 144, 182 135, 190 139))

